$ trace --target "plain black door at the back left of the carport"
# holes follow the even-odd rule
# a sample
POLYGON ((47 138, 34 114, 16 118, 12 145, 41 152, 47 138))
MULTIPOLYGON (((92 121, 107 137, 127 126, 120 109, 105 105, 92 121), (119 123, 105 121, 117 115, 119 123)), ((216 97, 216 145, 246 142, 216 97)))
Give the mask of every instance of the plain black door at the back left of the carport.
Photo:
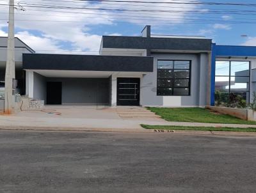
POLYGON ((46 103, 51 105, 61 105, 61 82, 47 82, 46 103))

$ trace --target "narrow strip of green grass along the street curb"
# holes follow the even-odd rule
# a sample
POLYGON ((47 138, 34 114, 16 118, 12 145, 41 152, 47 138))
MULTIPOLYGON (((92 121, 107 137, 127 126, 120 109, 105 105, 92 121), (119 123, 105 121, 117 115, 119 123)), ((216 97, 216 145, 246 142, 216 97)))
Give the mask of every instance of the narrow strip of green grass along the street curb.
POLYGON ((232 128, 232 127, 188 127, 188 126, 169 126, 169 125, 143 125, 141 127, 156 130, 205 130, 221 132, 256 132, 256 128, 232 128))

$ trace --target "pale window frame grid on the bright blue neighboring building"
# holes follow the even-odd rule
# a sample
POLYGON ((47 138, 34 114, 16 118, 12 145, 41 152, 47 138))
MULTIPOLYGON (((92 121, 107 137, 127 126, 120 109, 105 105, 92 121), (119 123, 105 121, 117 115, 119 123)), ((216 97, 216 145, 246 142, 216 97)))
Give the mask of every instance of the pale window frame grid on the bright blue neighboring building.
MULTIPOLYGON (((228 95, 230 95, 230 93, 248 93, 249 95, 249 102, 250 102, 250 93, 251 93, 251 87, 250 87, 250 82, 251 82, 251 61, 239 61, 239 60, 216 60, 217 61, 225 61, 229 63, 229 75, 216 75, 216 65, 215 65, 215 77, 228 77, 228 90, 220 90, 220 92, 227 92, 228 95), (249 63, 249 75, 245 76, 245 75, 231 75, 231 63, 232 62, 244 62, 244 63, 249 63), (249 88, 248 90, 244 90, 244 91, 238 91, 238 90, 232 90, 231 89, 231 77, 248 77, 249 78, 249 88)), ((214 90, 216 91, 216 89, 214 88, 214 90)))

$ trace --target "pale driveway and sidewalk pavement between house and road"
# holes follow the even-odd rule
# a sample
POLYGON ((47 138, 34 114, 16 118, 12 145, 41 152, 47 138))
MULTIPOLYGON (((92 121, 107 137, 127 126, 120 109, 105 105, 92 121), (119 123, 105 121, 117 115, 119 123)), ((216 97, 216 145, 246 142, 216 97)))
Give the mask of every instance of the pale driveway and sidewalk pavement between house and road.
POLYGON ((256 128, 256 125, 170 122, 162 120, 141 107, 47 106, 46 109, 54 109, 55 111, 22 111, 12 116, 1 115, 0 128, 121 132, 148 132, 148 130, 141 128, 140 124, 256 128), (61 115, 55 112, 60 112, 61 115))

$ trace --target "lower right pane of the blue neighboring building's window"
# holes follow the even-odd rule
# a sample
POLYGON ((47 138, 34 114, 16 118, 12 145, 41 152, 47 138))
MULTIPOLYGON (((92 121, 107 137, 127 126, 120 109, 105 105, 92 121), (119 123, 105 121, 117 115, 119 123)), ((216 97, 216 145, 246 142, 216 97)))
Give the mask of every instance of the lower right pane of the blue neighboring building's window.
POLYGON ((230 77, 230 90, 249 91, 249 77, 230 77))

